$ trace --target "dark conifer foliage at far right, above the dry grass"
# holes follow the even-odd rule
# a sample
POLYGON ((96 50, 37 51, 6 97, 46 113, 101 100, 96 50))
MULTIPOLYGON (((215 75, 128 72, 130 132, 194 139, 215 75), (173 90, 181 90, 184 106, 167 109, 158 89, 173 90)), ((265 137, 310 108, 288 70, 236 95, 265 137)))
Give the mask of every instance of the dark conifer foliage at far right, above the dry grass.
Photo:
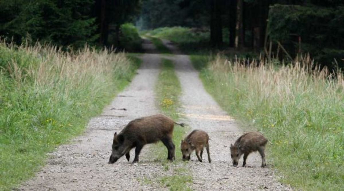
POLYGON ((315 7, 273 5, 269 12, 269 35, 272 40, 293 43, 300 36, 302 51, 331 68, 334 58, 344 67, 344 6, 315 7))

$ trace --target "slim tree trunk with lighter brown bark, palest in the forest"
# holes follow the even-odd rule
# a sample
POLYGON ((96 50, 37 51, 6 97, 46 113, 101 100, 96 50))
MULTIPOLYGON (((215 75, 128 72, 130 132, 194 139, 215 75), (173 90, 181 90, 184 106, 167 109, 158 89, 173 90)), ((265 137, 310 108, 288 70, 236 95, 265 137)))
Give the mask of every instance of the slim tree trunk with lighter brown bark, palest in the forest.
POLYGON ((238 0, 237 3, 237 22, 235 26, 235 48, 244 47, 244 27, 243 27, 243 5, 244 0, 238 0))

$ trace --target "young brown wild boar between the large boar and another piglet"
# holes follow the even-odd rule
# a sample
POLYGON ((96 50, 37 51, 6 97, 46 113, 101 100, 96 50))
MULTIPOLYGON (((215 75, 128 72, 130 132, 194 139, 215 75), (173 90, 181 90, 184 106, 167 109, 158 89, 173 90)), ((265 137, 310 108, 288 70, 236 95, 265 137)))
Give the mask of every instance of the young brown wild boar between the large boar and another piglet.
POLYGON ((208 162, 211 162, 209 153, 209 136, 205 131, 193 130, 187 135, 180 144, 182 150, 183 161, 190 160, 190 154, 193 150, 196 150, 196 156, 200 162, 202 162, 203 148, 207 149, 208 162))

